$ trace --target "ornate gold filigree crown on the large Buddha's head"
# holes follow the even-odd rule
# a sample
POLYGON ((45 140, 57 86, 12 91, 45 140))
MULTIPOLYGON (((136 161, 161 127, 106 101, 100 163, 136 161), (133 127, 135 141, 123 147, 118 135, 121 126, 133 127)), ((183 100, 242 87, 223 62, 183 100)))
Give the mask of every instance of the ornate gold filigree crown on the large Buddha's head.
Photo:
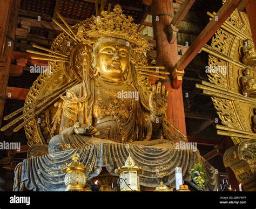
POLYGON ((146 39, 138 32, 138 25, 131 16, 123 14, 120 5, 114 6, 113 12, 102 11, 100 16, 92 16, 87 27, 80 26, 76 38, 89 43, 89 39, 100 37, 113 37, 129 42, 132 49, 137 52, 149 50, 146 39))

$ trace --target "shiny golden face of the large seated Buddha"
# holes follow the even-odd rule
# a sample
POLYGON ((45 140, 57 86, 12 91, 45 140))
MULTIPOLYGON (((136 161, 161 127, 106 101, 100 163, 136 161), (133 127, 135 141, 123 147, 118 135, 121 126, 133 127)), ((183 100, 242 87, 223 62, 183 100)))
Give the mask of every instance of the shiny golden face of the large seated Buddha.
POLYGON ((117 41, 106 41, 98 46, 97 62, 100 76, 113 80, 122 79, 127 72, 130 48, 117 41))

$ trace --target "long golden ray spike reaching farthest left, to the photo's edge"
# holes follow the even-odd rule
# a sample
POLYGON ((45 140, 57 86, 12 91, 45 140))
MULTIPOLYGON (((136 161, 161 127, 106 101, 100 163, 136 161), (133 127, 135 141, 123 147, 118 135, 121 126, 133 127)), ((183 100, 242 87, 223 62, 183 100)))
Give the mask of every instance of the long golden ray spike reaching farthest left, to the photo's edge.
MULTIPOLYGON (((68 86, 66 86, 65 88, 69 88, 72 87, 74 85, 76 85, 76 83, 78 83, 78 81, 72 82, 70 83, 68 86)), ((43 102, 39 102, 37 103, 37 105, 33 108, 31 108, 30 110, 28 110, 28 112, 22 114, 21 116, 17 117, 17 119, 11 121, 10 123, 6 124, 4 127, 1 128, 1 131, 5 131, 6 129, 10 128, 11 126, 13 126, 15 123, 17 123, 18 121, 22 120, 25 116, 29 115, 30 113, 32 113, 35 109, 37 109, 38 107, 41 107, 42 105, 44 105, 45 103, 49 102, 52 99, 55 99, 56 96, 59 96, 59 94, 63 94, 65 93, 65 88, 60 89, 58 92, 56 92, 53 95, 50 95, 46 100, 43 100, 43 102)))

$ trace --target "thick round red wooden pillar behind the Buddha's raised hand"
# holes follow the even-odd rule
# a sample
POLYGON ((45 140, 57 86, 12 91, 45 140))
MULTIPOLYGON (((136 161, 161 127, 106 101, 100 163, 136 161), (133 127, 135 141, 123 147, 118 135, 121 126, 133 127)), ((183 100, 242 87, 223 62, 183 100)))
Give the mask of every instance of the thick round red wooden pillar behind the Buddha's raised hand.
MULTIPOLYGON (((170 44, 167 39, 167 29, 174 16, 172 2, 172 0, 153 0, 151 8, 154 39, 157 41, 156 65, 165 66, 169 71, 179 59, 177 40, 170 44)), ((168 120, 186 134, 182 89, 181 87, 177 90, 173 89, 170 80, 163 81, 163 84, 169 90, 168 120)))

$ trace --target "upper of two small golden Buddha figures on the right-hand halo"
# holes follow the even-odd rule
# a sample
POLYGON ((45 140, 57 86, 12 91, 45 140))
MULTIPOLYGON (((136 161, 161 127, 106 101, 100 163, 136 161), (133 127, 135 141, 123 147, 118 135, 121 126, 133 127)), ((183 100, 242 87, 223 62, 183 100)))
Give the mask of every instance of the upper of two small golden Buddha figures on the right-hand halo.
POLYGON ((256 65, 256 52, 254 48, 254 43, 251 39, 246 39, 244 41, 244 47, 242 47, 242 52, 244 57, 242 57, 242 62, 248 66, 256 65))

